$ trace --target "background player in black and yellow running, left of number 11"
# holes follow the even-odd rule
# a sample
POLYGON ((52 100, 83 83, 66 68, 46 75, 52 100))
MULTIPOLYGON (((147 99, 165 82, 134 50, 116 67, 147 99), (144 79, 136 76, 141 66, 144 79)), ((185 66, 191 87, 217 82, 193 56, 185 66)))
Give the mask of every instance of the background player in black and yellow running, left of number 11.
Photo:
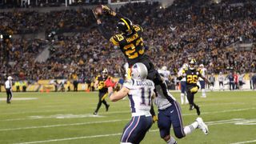
POLYGON ((106 111, 109 110, 110 105, 106 103, 107 96, 107 87, 105 86, 105 81, 109 78, 107 75, 107 70, 104 69, 101 75, 96 77, 96 81, 94 83, 94 87, 98 87, 98 105, 96 110, 94 111, 94 115, 98 114, 99 108, 102 106, 102 103, 106 106, 106 111))

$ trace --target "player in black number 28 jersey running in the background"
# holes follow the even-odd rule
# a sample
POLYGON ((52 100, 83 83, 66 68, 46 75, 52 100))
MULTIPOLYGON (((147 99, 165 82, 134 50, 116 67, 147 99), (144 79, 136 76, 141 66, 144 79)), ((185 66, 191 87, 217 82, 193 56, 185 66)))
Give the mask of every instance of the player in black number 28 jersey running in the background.
MULTIPOLYGON (((191 59, 189 62, 189 68, 187 70, 182 71, 182 77, 186 78, 186 94, 187 99, 190 103, 190 110, 193 110, 194 108, 197 110, 197 114, 200 115, 200 109, 199 106, 194 103, 194 94, 198 92, 198 78, 202 78, 205 82, 210 84, 209 80, 202 76, 199 70, 196 69, 196 61, 195 59, 191 59)), ((181 79, 180 78, 180 79, 181 79)))

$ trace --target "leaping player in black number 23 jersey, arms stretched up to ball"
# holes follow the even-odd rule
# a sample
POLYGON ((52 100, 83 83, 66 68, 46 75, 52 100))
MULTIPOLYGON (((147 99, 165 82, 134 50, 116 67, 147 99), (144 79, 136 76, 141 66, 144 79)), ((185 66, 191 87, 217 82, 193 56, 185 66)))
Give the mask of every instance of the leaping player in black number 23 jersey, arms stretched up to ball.
MULTIPOLYGON (((158 71, 154 69, 153 63, 150 58, 145 54, 145 46, 142 38, 143 29, 141 26, 134 25, 129 18, 124 18, 122 15, 110 10, 107 6, 96 6, 93 10, 94 16, 98 23, 98 30, 104 38, 119 46, 122 53, 125 55, 129 67, 133 66, 137 62, 142 62, 147 70, 147 79, 154 82, 155 85, 160 85, 164 96, 169 102, 174 102, 174 98, 169 94, 166 83, 161 78, 158 71), (110 34, 106 32, 106 28, 102 26, 102 21, 98 18, 99 15, 107 14, 114 18, 118 18, 118 32, 119 34, 110 34)), ((152 105, 153 106, 153 105, 152 105)))

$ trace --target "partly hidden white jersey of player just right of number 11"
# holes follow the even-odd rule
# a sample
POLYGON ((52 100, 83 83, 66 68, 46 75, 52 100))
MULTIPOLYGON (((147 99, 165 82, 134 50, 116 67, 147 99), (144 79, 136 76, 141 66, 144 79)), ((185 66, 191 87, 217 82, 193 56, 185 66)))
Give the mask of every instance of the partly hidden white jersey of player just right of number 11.
POLYGON ((167 107, 171 106, 170 102, 166 99, 164 94, 162 93, 162 88, 161 86, 155 86, 157 90, 157 97, 154 98, 154 104, 158 106, 159 110, 164 110, 167 107))

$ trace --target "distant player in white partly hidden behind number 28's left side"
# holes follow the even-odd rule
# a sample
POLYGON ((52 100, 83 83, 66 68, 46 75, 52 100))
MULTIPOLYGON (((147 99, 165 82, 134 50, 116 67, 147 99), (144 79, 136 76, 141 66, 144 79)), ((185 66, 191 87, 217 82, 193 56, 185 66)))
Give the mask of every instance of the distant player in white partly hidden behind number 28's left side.
MULTIPOLYGON (((188 69, 188 65, 187 65, 187 63, 184 63, 183 65, 182 65, 182 67, 180 68, 180 70, 178 71, 178 77, 180 77, 180 76, 182 76, 182 71, 184 71, 184 70, 187 70, 188 69)), ((182 105, 184 104, 184 100, 185 100, 185 103, 187 104, 187 103, 189 103, 189 101, 187 100, 187 98, 186 98, 186 78, 182 78, 182 80, 181 80, 181 103, 182 103, 182 105)))

